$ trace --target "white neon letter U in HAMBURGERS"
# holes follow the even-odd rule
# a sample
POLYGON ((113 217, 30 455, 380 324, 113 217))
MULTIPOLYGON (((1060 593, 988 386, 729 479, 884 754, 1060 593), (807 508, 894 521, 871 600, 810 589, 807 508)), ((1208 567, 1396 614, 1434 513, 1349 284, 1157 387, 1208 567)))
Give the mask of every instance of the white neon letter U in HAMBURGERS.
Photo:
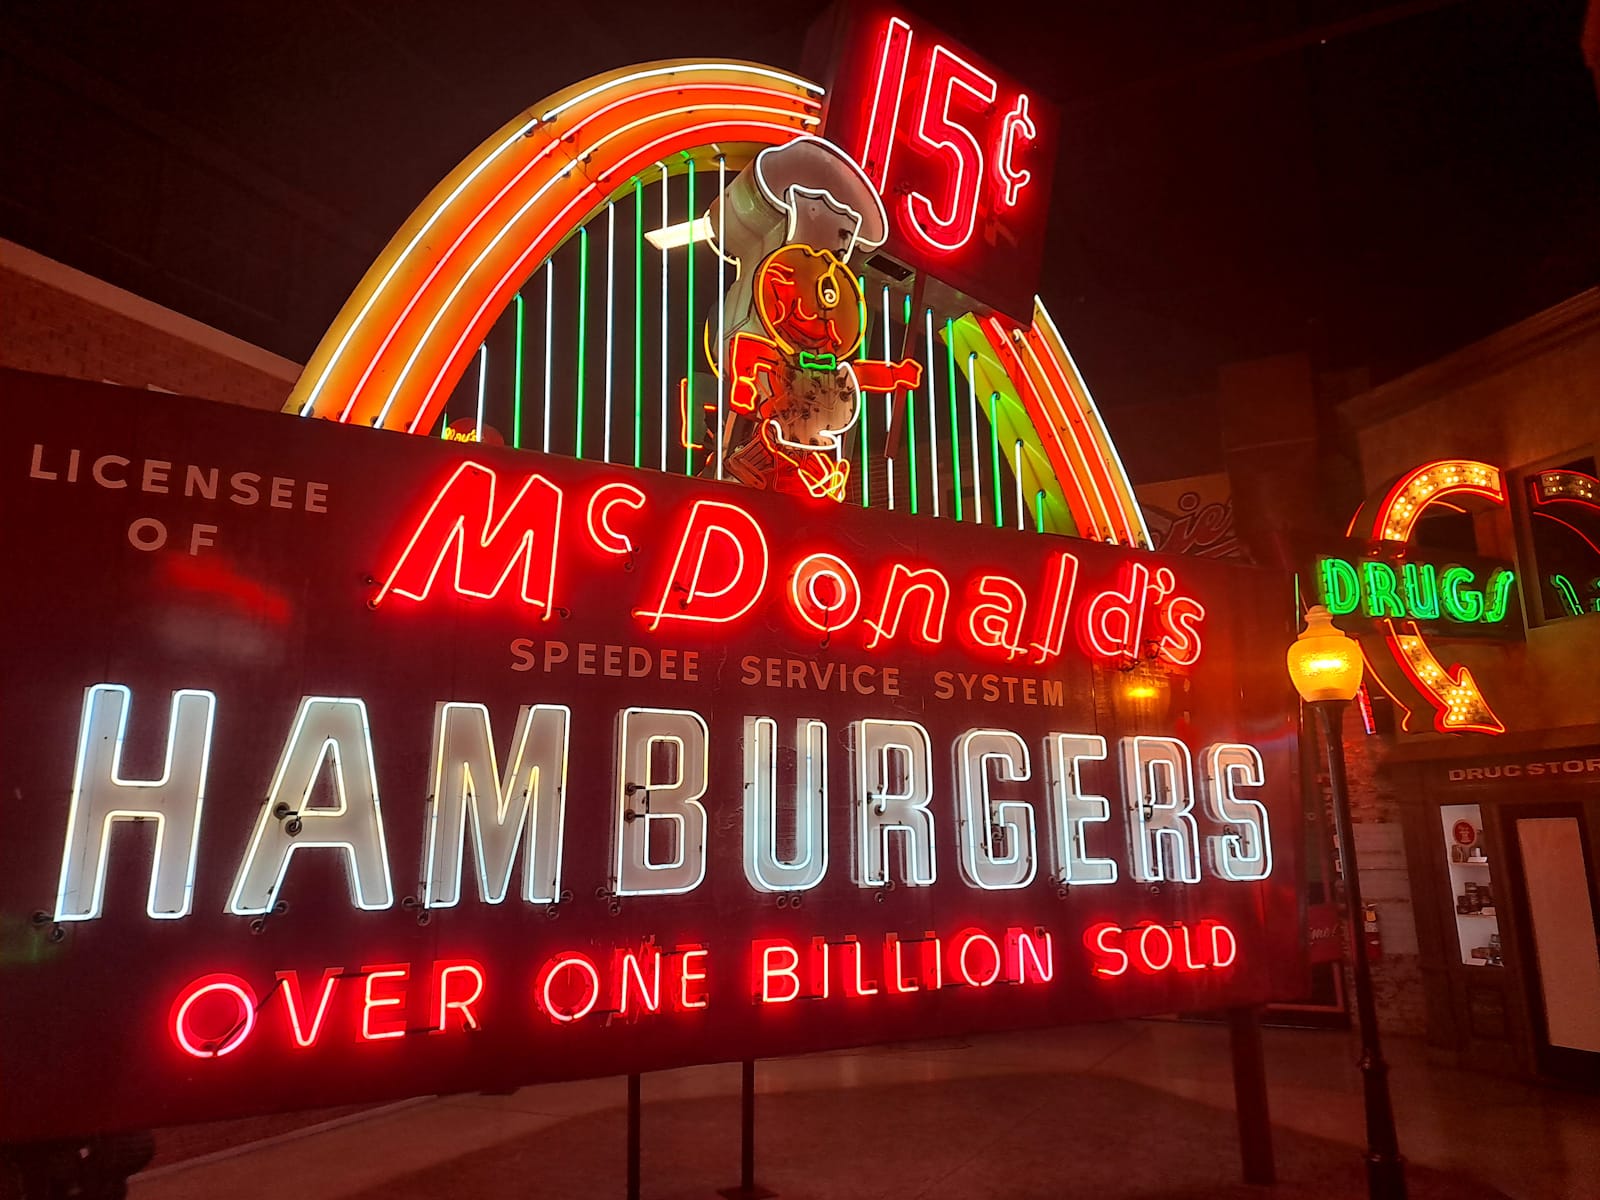
POLYGON ((827 874, 827 725, 795 722, 794 854, 778 853, 778 722, 744 718, 744 877, 757 891, 805 891, 827 874))

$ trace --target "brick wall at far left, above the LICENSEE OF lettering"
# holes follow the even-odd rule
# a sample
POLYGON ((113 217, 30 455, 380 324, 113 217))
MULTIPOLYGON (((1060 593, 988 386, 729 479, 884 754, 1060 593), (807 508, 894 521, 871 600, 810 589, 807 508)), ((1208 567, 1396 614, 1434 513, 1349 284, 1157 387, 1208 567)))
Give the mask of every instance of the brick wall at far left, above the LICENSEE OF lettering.
POLYGON ((0 243, 0 366, 278 410, 299 366, 0 243))

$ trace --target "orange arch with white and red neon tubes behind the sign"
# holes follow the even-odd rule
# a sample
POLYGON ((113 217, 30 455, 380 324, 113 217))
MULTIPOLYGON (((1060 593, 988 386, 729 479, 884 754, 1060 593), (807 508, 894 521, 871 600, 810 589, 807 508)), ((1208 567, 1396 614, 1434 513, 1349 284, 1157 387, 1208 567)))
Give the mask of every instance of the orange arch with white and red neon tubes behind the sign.
MULTIPOLYGON (((714 142, 787 142, 819 123, 821 96, 816 83, 773 67, 683 59, 595 75, 528 109, 394 235, 285 408, 426 432, 517 288, 634 174, 714 142)), ((1030 426, 1024 485, 1045 494, 1050 528, 1070 518, 1080 536, 1149 546, 1117 451, 1043 304, 1026 330, 994 317, 981 328, 984 344, 973 350, 1030 426)))

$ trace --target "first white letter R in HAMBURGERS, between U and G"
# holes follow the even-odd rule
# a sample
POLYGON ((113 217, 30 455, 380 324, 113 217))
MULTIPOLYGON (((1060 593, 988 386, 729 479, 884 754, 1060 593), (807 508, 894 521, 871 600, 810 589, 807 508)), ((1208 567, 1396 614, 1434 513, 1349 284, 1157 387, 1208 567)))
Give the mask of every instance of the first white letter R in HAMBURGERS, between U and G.
POLYGON ((890 835, 898 834, 901 878, 926 888, 933 854, 933 747, 915 722, 859 720, 854 733, 854 875, 862 888, 890 882, 890 835), (898 766, 896 766, 898 765, 898 766))

